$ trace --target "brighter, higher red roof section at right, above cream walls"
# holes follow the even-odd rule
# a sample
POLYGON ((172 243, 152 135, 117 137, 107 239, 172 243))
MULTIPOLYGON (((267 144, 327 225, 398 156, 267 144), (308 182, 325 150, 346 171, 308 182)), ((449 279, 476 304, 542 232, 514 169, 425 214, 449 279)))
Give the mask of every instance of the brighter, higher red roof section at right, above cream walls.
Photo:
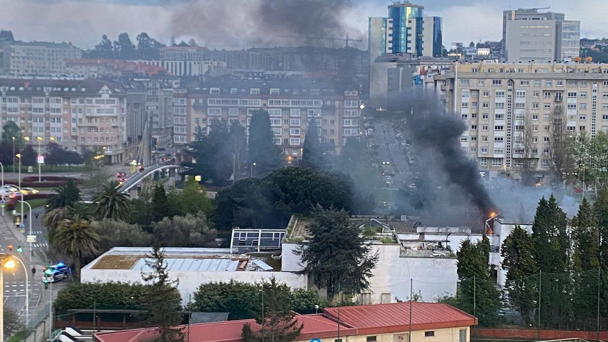
MULTIPOLYGON (((338 308, 324 309, 337 319, 338 308)), ((409 330, 410 303, 390 303, 340 307, 340 323, 357 327, 359 334, 409 330)), ((477 318, 447 304, 413 302, 412 330, 465 327, 477 324, 477 318)))

